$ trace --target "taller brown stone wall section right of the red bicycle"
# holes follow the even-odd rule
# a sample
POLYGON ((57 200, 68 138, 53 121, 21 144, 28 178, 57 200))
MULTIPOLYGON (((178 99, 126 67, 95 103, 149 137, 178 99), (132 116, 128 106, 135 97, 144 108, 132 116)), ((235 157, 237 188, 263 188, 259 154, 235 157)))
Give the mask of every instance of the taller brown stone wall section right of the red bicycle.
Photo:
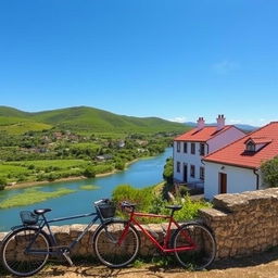
POLYGON ((278 189, 219 194, 201 210, 213 230, 217 258, 250 255, 278 244, 278 189))

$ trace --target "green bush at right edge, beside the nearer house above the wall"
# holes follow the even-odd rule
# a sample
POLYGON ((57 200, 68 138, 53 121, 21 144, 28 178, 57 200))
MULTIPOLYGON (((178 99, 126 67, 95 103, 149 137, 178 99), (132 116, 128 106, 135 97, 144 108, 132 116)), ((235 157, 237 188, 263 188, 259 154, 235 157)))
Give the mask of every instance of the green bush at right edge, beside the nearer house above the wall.
POLYGON ((261 165, 263 179, 269 187, 278 187, 278 156, 261 165))

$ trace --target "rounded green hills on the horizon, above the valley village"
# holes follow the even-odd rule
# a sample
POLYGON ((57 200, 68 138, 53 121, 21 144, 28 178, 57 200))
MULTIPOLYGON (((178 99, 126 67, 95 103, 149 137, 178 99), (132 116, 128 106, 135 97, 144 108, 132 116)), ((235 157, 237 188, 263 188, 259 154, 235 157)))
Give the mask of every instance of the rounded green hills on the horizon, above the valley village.
POLYGON ((0 129, 8 132, 16 125, 25 125, 18 134, 56 127, 77 132, 185 132, 190 127, 157 117, 132 117, 113 114, 108 111, 78 106, 27 113, 13 108, 0 106, 0 129), (33 129, 34 126, 34 129, 33 129))

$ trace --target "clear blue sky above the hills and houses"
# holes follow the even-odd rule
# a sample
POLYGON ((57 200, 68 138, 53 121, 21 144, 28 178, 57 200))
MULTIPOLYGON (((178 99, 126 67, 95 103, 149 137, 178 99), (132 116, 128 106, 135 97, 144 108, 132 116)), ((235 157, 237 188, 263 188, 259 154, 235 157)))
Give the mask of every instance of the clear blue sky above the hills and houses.
POLYGON ((0 1, 1 105, 278 121, 276 0, 0 1))

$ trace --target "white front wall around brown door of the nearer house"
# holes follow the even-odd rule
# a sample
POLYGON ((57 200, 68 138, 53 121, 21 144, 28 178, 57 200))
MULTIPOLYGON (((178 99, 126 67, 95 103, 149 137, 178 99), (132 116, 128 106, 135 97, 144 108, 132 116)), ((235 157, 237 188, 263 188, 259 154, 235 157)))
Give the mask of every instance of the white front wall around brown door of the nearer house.
MULTIPOLYGON (((227 193, 240 193, 256 190, 256 175, 253 169, 229 166, 218 163, 205 163, 204 198, 213 199, 219 193, 219 173, 227 174, 227 193), (222 168, 224 167, 224 168, 222 168)), ((260 188, 262 178, 260 175, 260 188)))

